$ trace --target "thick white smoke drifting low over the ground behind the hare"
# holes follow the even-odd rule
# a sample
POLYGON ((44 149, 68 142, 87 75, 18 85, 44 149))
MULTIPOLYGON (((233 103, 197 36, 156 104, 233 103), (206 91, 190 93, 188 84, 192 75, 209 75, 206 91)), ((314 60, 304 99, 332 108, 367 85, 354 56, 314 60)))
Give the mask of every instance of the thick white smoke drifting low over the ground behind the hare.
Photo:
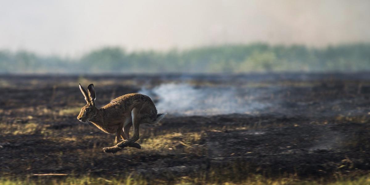
POLYGON ((253 114, 268 106, 242 88, 168 83, 139 91, 156 100, 158 112, 175 115, 253 114))

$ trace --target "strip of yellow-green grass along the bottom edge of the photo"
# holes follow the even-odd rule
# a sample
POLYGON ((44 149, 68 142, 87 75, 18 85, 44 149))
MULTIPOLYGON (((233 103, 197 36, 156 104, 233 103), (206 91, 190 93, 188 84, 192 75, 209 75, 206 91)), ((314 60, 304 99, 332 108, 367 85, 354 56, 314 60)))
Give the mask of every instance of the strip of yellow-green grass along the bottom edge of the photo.
MULTIPOLYGON (((53 184, 53 185, 112 185, 112 184, 125 184, 125 185, 147 185, 147 184, 167 184, 168 182, 160 179, 152 179, 148 182, 141 176, 128 175, 125 177, 93 177, 93 176, 73 176, 63 175, 65 178, 53 178, 51 175, 40 176, 37 179, 30 178, 0 178, 0 185, 37 185, 37 184, 53 184)), ((182 176, 175 179, 171 184, 175 185, 192 185, 192 184, 205 184, 205 185, 365 185, 370 184, 370 176, 361 176, 353 179, 337 179, 331 183, 325 183, 324 179, 310 180, 297 179, 295 176, 282 177, 282 178, 265 178, 261 175, 251 175, 243 181, 239 182, 221 182, 221 178, 214 179, 213 181, 206 180, 202 176, 189 177, 182 176)))

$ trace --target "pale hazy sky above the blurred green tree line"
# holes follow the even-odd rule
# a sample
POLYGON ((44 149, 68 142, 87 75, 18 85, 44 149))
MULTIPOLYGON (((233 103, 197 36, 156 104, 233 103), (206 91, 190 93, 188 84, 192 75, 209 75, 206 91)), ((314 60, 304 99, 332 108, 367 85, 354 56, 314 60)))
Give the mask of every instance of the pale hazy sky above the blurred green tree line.
POLYGON ((0 0, 0 49, 81 55, 223 43, 370 41, 370 0, 0 0))

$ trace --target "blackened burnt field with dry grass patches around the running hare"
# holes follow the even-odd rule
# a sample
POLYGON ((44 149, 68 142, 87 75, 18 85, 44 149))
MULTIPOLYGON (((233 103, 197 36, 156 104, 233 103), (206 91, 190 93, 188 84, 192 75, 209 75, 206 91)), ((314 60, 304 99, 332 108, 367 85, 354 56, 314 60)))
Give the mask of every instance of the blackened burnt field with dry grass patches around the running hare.
POLYGON ((370 170, 369 73, 2 75, 0 94, 2 178, 295 184, 370 170), (106 154, 114 135, 76 119, 78 83, 94 83, 98 107, 140 92, 168 116, 140 126, 142 149, 106 154))

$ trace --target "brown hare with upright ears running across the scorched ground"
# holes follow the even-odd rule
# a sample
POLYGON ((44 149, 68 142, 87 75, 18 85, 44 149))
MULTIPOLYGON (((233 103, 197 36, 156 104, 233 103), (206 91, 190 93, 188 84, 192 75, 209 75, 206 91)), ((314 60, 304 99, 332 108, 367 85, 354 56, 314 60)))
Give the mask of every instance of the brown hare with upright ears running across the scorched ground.
POLYGON ((132 93, 112 100, 102 108, 95 107, 95 89, 90 84, 87 91, 81 86, 80 90, 87 104, 81 108, 77 119, 81 122, 90 121, 96 127, 108 134, 115 134, 114 147, 103 148, 104 152, 117 152, 124 147, 140 149, 136 143, 139 139, 139 125, 143 123, 155 124, 166 114, 157 114, 153 101, 144 94, 132 93), (134 126, 134 135, 129 138, 129 129, 134 126), (124 140, 120 142, 120 137, 124 140))

